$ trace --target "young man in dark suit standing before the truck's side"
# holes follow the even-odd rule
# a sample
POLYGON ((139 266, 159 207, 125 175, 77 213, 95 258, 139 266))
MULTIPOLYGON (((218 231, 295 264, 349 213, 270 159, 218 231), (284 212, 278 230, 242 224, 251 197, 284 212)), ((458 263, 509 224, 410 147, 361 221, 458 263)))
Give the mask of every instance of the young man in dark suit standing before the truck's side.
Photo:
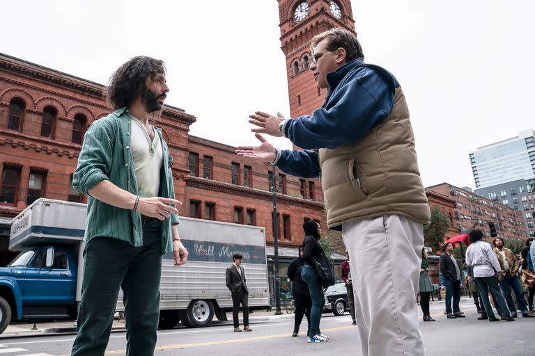
POLYGON ((232 256, 234 261, 231 266, 226 268, 226 286, 231 291, 232 296, 232 320, 234 331, 240 332, 240 305, 243 310, 243 331, 253 331, 249 327, 249 291, 247 290, 247 280, 245 278, 245 268, 242 266, 243 256, 235 253, 232 256))

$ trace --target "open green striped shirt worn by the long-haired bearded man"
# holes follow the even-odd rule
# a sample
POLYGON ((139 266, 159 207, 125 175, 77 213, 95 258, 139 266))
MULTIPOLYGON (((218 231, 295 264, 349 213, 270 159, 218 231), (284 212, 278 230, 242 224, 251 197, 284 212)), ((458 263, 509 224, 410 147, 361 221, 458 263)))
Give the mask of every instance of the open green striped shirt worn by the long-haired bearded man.
MULTIPOLYGON (((78 166, 72 178, 75 191, 88 194, 89 189, 107 179, 119 188, 139 195, 130 152, 131 128, 127 108, 121 108, 91 124, 84 136, 78 166)), ((155 131, 160 136, 163 149, 160 196, 174 199, 171 174, 173 157, 162 137, 162 130, 155 127, 155 131)), ((171 224, 178 224, 176 214, 171 214, 171 218, 162 222, 162 254, 173 250, 171 224)), ((111 206, 89 195, 85 242, 97 236, 118 238, 139 247, 143 245, 141 215, 137 211, 111 206)))

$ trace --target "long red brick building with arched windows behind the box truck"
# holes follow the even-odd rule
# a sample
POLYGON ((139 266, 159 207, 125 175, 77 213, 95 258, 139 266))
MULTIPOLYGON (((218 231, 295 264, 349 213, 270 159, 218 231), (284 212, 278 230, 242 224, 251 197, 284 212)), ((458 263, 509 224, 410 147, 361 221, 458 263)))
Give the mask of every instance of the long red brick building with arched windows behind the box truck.
MULTIPOLYGON (((104 89, 0 54, 0 250, 8 247, 10 219, 38 197, 86 202, 71 188, 72 173, 87 127, 110 112, 104 89)), ((235 147, 190 136, 195 121, 169 105, 153 121, 174 159, 180 216, 264 226, 273 243, 272 165, 251 164, 235 147)), ((326 230, 321 187, 318 179, 279 173, 277 181, 280 245, 296 248, 304 220, 318 220, 326 230)))

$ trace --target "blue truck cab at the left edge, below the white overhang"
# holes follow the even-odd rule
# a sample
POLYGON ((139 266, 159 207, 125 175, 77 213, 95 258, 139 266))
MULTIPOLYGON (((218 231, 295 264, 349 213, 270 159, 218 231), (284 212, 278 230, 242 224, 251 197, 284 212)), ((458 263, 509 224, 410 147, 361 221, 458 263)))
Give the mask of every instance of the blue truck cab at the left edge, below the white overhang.
POLYGON ((0 332, 12 320, 72 318, 76 286, 77 261, 70 246, 23 250, 0 268, 0 332))

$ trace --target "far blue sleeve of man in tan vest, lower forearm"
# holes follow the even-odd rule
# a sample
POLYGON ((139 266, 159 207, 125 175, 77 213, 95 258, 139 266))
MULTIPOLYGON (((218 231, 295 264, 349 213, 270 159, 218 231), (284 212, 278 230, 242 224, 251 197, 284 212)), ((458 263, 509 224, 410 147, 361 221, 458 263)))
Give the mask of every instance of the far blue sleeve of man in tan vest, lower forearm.
POLYGON ((281 171, 295 177, 316 178, 320 175, 320 163, 316 151, 284 149, 275 165, 281 171))

